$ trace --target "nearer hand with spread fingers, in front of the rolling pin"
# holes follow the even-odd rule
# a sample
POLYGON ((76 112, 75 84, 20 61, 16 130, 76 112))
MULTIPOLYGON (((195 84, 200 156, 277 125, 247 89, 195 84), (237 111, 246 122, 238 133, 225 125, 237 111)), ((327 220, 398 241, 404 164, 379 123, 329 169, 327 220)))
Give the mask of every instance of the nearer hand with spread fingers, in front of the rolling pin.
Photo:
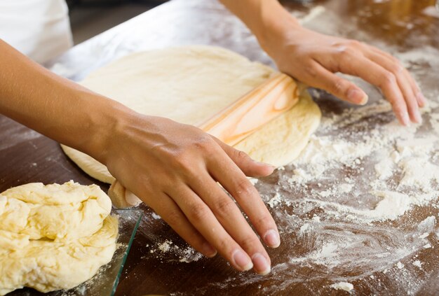
POLYGON ((276 248, 276 224, 245 177, 267 176, 273 167, 196 127, 134 112, 120 120, 106 146, 99 158, 113 176, 197 251, 208 257, 218 252, 241 271, 270 271, 269 255, 240 207, 264 242, 276 248))

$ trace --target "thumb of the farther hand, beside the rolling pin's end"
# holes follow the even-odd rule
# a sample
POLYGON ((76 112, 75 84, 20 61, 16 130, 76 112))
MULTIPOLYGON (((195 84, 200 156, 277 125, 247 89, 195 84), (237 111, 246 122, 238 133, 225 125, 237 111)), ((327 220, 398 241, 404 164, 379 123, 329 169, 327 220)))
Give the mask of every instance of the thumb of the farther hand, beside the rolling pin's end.
POLYGON ((367 103, 367 94, 365 94, 360 87, 328 71, 325 67, 318 64, 318 62, 312 64, 311 69, 309 69, 309 74, 312 83, 304 81, 305 83, 326 90, 339 99, 349 101, 353 104, 364 105, 367 103))

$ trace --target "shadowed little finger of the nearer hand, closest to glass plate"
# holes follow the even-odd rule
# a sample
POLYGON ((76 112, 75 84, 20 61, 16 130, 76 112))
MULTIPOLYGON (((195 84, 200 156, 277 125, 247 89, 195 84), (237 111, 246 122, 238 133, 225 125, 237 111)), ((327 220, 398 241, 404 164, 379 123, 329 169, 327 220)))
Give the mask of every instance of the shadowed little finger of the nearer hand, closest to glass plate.
POLYGON ((148 204, 196 251, 208 258, 217 255, 217 250, 191 225, 184 213, 168 195, 165 193, 158 195, 153 202, 148 204))

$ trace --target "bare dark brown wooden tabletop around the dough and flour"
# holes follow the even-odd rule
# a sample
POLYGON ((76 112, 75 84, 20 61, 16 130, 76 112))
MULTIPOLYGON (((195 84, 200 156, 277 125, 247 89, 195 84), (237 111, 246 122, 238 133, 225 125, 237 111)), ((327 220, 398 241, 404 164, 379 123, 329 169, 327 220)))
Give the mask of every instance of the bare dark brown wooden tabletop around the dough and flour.
MULTIPOLYGON (((331 26, 319 22, 321 15, 306 21, 306 27, 337 34, 349 38, 358 38, 375 45, 386 45, 398 52, 416 48, 439 47, 439 18, 428 15, 425 8, 434 5, 434 1, 410 0, 327 0, 283 1, 298 17, 305 17, 312 8, 323 6, 324 14, 334 15, 331 26), (352 29, 355 28, 355 29, 352 29)), ((314 10, 316 11, 316 10, 314 10)), ((430 12, 432 10, 429 10, 430 12)), ((305 19, 306 20, 306 19, 305 19)), ((273 62, 262 52, 255 37, 250 34, 239 20, 227 12, 216 1, 173 0, 125 22, 103 34, 76 45, 47 66, 62 76, 72 80, 81 80, 93 69, 126 55, 130 52, 151 48, 164 48, 170 45, 210 44, 229 48, 250 59, 273 66, 273 62)), ((437 57, 439 59, 439 57, 437 57)), ((438 94, 438 68, 435 63, 414 65, 414 71, 428 73, 421 76, 422 87, 438 94)), ((421 75, 421 74, 420 74, 421 75)), ((418 77, 419 78, 419 77, 418 77)), ((367 90, 375 92, 364 84, 367 90)), ((334 100, 321 93, 319 99, 323 113, 334 108, 345 108, 335 104, 334 100), (327 100, 325 101, 325 97, 327 100), (331 104, 327 102, 332 102, 331 104)), ((273 177, 262 181, 270 186, 275 178, 282 174, 278 171, 273 177)), ((17 122, 0 115, 0 192, 16 185, 29 182, 63 183, 74 180, 84 185, 97 183, 104 190, 108 185, 100 183, 84 174, 70 161, 55 141, 38 134, 17 122)), ((142 206, 145 217, 126 262, 116 295, 160 294, 203 294, 211 295, 313 295, 344 293, 339 290, 323 288, 327 279, 320 276, 314 280, 316 270, 309 269, 302 277, 287 286, 282 279, 276 281, 253 276, 245 281, 245 275, 234 272, 222 260, 215 258, 198 260, 190 249, 168 226, 142 206), (166 240, 173 246, 179 246, 180 257, 175 254, 161 253, 153 246, 160 246, 166 240), (189 258, 193 262, 180 262, 179 258, 189 258), (269 288, 278 285, 278 290, 269 288), (264 290, 265 289, 265 290, 264 290), (265 292, 264 292, 265 291, 265 292)), ((420 209, 419 215, 435 213, 433 209, 420 209)), ((288 248, 271 250, 273 265, 283 262, 288 248)), ((421 255, 425 260, 438 262, 439 246, 431 252, 421 255)), ((346 275, 344 275, 346 276, 346 275)), ((419 295, 439 293, 439 267, 432 265, 428 273, 419 275, 419 295)), ((359 285, 357 295, 372 293, 407 294, 403 284, 396 281, 383 281, 378 286, 359 285), (382 284, 382 286, 381 286, 382 284), (402 285, 402 286, 401 286, 402 285)))

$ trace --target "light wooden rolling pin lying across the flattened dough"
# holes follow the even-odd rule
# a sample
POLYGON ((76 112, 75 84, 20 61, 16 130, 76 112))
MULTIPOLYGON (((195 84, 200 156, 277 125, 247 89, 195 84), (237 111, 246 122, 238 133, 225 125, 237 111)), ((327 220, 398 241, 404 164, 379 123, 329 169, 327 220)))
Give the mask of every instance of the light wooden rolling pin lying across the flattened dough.
MULTIPOLYGON (((278 73, 197 126, 234 146, 266 122, 290 110, 297 101, 299 90, 295 80, 278 73)), ((112 183, 108 195, 117 208, 127 208, 141 202, 117 180, 112 183)))

